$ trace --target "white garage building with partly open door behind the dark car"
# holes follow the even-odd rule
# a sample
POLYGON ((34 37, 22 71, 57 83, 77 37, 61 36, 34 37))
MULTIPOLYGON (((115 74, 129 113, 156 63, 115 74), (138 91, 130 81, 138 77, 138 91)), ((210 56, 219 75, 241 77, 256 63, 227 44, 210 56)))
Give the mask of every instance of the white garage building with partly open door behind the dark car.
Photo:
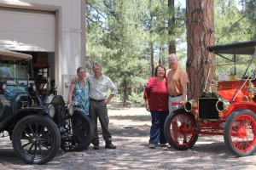
POLYGON ((0 48, 32 54, 38 88, 55 80, 67 100, 70 75, 85 65, 85 0, 0 0, 0 48))

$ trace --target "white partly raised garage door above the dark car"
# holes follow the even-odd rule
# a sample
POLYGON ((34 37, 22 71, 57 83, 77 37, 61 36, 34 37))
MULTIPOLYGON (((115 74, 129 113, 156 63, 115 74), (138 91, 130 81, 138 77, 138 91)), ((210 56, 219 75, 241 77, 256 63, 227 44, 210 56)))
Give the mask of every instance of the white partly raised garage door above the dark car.
POLYGON ((0 8, 0 48, 54 52, 55 14, 0 8))

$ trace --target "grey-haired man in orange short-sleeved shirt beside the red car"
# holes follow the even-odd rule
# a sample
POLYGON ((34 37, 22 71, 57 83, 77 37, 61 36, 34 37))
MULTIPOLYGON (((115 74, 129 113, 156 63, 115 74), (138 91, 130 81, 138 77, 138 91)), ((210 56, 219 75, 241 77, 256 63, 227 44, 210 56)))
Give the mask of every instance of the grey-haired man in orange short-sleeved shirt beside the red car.
POLYGON ((187 85, 189 78, 186 71, 183 71, 177 65, 177 55, 170 54, 168 62, 171 67, 167 71, 167 89, 169 94, 168 108, 169 113, 182 107, 182 105, 188 100, 187 97, 187 85))

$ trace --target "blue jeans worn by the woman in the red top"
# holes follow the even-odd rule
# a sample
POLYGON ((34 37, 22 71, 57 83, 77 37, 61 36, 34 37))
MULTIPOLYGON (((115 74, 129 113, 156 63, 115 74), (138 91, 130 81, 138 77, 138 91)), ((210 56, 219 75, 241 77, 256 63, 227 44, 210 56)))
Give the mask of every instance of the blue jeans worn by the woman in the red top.
POLYGON ((169 111, 150 111, 152 126, 150 128, 149 144, 166 144, 164 125, 169 111))

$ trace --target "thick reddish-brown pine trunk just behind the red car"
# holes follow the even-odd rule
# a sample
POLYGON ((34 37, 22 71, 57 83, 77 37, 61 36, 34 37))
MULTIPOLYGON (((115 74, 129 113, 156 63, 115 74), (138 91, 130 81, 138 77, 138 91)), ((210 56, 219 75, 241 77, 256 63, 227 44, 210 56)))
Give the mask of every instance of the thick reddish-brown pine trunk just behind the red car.
MULTIPOLYGON (((186 0, 189 99, 198 99, 204 90, 212 55, 207 46, 215 41, 213 21, 213 0, 186 0)), ((212 71, 209 80, 212 81, 212 71)))

